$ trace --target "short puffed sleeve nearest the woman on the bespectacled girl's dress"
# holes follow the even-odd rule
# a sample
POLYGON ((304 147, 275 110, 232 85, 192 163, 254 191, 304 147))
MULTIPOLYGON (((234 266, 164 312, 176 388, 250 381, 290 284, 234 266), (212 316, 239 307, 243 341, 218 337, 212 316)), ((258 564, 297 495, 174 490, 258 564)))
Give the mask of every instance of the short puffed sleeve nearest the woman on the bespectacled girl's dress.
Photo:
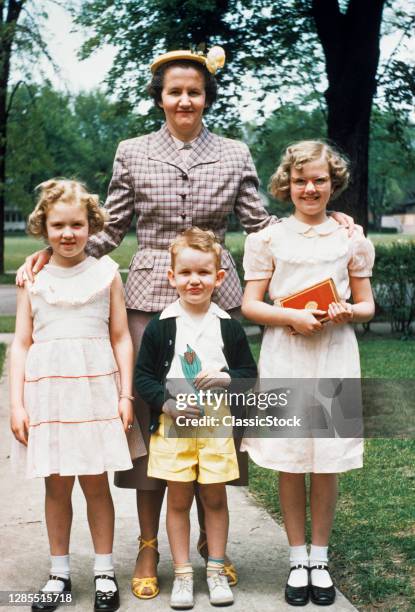
POLYGON ((244 270, 245 280, 271 278, 274 261, 271 252, 270 228, 249 234, 245 241, 244 270))

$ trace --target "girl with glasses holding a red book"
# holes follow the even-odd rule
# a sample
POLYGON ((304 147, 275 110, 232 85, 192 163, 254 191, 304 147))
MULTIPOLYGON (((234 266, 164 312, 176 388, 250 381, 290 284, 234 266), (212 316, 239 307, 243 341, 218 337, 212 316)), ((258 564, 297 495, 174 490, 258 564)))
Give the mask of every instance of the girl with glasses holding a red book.
MULTIPOLYGON (((247 285, 242 311, 266 325, 259 360, 261 379, 357 378, 357 341, 351 322, 369 321, 374 303, 369 277, 372 244, 357 230, 327 216, 329 200, 347 186, 346 161, 331 146, 303 141, 290 146, 271 178, 271 193, 294 205, 281 223, 250 234, 245 244, 247 285), (331 277, 341 298, 321 310, 279 307, 278 300, 331 277), (264 302, 269 293, 273 305, 264 302), (353 297, 353 304, 347 300, 353 297)), ((362 466, 358 438, 245 438, 242 450, 263 467, 279 471, 279 494, 290 544, 289 604, 329 605, 335 590, 327 547, 336 506, 336 473, 362 466), (305 474, 310 473, 311 549, 305 542, 305 474)))

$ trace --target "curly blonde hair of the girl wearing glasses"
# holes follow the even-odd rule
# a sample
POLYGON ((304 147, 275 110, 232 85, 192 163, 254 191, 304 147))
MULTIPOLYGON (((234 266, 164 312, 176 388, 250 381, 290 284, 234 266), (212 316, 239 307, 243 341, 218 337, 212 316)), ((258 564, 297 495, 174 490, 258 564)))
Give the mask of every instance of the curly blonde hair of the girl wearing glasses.
POLYGON ((304 164, 319 159, 328 163, 333 188, 331 199, 337 198, 349 182, 349 161, 332 145, 321 140, 301 140, 287 147, 271 176, 268 185, 271 195, 283 202, 290 201, 291 168, 294 166, 296 170, 301 170, 304 164))

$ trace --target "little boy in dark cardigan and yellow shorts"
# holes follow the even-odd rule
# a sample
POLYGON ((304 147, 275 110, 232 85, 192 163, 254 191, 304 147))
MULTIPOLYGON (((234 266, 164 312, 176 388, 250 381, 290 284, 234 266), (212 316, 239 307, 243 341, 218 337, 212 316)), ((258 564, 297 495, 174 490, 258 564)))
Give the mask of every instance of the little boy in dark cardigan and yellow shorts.
POLYGON ((135 370, 137 391, 154 417, 148 475, 168 485, 167 532, 175 574, 171 607, 194 605, 189 513, 195 481, 205 511, 210 602, 227 605, 233 595, 223 574, 229 523, 225 483, 238 478, 238 463, 232 436, 215 437, 215 427, 199 426, 195 419, 203 415, 201 391, 224 392, 237 379, 240 391, 256 378, 257 369, 240 323, 211 301, 225 276, 213 232, 187 229, 170 245, 170 256, 169 282, 179 299, 147 326, 135 370), (165 389, 177 390, 179 383, 198 401, 179 402, 177 393, 166 401, 165 389), (190 423, 185 431, 184 422, 190 423))

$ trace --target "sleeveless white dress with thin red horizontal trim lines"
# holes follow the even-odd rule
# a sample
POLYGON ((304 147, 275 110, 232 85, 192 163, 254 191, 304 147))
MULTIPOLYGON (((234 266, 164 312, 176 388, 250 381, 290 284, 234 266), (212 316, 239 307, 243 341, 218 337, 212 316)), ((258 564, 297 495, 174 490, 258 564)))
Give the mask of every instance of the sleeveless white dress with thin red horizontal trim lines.
POLYGON ((49 264, 29 286, 33 344, 24 385, 29 478, 132 467, 108 328, 117 268, 108 256, 87 257, 71 268, 49 264))

